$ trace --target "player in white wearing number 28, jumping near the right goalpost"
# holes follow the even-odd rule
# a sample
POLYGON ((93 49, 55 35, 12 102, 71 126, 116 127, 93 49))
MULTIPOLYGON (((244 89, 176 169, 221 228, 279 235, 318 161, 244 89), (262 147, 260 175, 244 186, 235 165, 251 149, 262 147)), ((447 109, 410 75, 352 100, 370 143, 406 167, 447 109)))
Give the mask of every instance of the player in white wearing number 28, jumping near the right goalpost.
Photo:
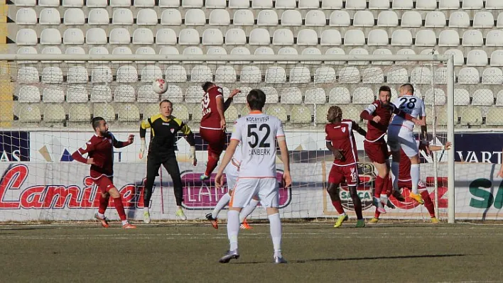
MULTIPOLYGON (((393 104, 398 106, 401 111, 409 113, 413 118, 420 119, 417 122, 421 125, 421 135, 426 137, 426 110, 424 102, 418 96, 414 96, 414 87, 412 84, 403 84, 399 89, 399 97, 393 101, 393 104)), ((418 194, 419 184, 419 149, 414 138, 414 123, 406 121, 404 118, 395 115, 388 128, 388 145, 391 150, 393 162, 391 163, 391 176, 393 179, 393 189, 398 191, 398 178, 400 168, 400 149, 404 150, 405 154, 411 160, 411 198, 423 204, 421 194, 418 194)))

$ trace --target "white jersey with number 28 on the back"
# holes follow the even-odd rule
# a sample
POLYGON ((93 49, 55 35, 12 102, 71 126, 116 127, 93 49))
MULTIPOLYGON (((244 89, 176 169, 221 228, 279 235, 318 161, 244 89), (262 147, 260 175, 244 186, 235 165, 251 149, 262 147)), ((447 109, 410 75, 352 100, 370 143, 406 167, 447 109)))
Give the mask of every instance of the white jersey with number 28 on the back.
MULTIPOLYGON (((396 105, 401 111, 408 113, 414 118, 421 118, 426 116, 426 109, 424 107, 423 99, 420 99, 418 96, 413 95, 404 95, 393 101, 393 104, 396 105)), ((409 128, 411 131, 414 128, 414 123, 412 121, 407 121, 405 118, 401 118, 398 115, 393 117, 390 125, 395 126, 405 126, 409 128)))

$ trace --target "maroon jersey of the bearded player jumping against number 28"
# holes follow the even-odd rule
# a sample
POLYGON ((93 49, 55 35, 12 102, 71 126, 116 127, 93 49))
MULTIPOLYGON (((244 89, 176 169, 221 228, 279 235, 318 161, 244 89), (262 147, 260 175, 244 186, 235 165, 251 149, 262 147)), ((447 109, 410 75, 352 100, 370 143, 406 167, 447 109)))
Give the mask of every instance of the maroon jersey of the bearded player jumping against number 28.
MULTIPOLYGON (((374 103, 367 106, 367 108, 360 115, 360 117, 369 121, 365 139, 369 142, 375 142, 382 138, 386 134, 386 131, 388 131, 388 126, 389 122, 391 121, 392 114, 404 116, 404 118, 407 118, 405 112, 401 111, 398 107, 391 103, 387 106, 384 106, 380 100, 376 100, 374 101, 374 103), (374 118, 375 116, 381 117, 381 121, 379 121, 379 123, 372 121, 372 118, 374 118)), ((410 118, 408 118, 408 120, 410 120, 410 118)))

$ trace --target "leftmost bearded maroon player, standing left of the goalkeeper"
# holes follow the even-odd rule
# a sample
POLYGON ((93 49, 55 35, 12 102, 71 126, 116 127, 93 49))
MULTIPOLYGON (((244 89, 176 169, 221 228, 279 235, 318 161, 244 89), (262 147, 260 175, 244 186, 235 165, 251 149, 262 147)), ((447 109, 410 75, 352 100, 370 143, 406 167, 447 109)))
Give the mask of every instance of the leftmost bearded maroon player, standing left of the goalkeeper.
POLYGON ((109 227, 108 218, 104 216, 104 212, 107 210, 109 197, 112 196, 115 209, 117 209, 122 221, 122 228, 136 228, 127 221, 121 194, 112 180, 114 176, 113 148, 124 148, 131 145, 134 141, 134 135, 129 135, 128 140, 125 142, 116 140, 114 135, 108 131, 107 121, 102 117, 92 119, 92 128, 94 129, 94 135, 82 148, 73 152, 72 158, 78 162, 91 165, 90 175, 94 184, 97 184, 100 193, 99 209, 98 213, 94 214, 94 218, 99 220, 104 228, 109 227), (87 153, 87 158, 82 156, 85 153, 87 153))

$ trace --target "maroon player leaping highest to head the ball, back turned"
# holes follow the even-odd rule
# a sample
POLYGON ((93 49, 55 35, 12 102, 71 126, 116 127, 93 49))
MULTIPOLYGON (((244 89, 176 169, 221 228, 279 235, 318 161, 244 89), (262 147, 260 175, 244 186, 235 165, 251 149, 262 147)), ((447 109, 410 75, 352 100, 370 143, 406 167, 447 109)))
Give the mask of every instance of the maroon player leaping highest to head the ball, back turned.
POLYGON ((233 97, 241 91, 233 89, 224 103, 224 91, 221 87, 217 87, 212 82, 205 82, 202 90, 205 91, 205 96, 201 100, 202 118, 199 134, 208 143, 208 162, 205 174, 201 175, 201 180, 205 180, 217 167, 220 155, 227 143, 224 112, 229 108, 233 97))

